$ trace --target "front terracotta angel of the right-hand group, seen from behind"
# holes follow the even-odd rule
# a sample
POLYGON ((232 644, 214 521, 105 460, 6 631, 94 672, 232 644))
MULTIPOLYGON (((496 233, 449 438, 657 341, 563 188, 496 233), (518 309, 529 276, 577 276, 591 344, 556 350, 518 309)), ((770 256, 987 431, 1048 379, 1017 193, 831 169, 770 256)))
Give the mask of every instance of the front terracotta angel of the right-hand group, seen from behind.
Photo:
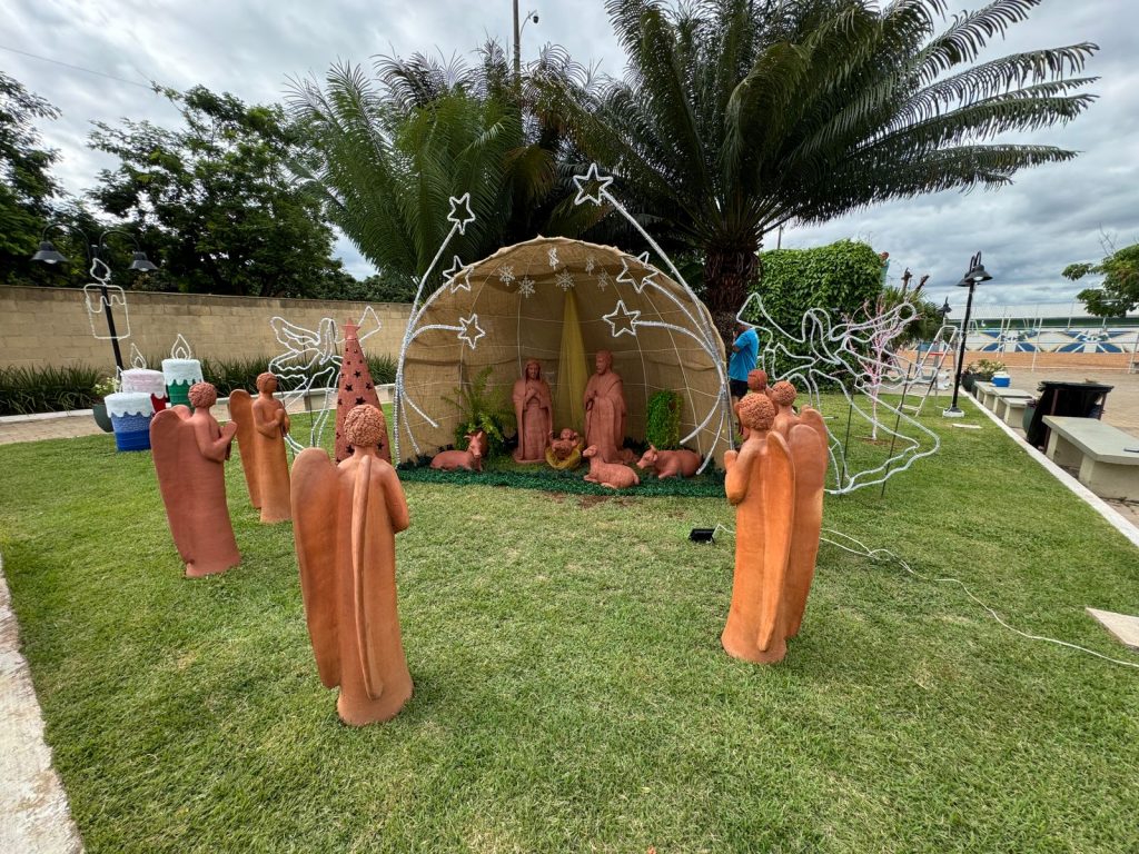
POLYGON ((736 573, 721 642, 736 658, 771 664, 798 631, 814 573, 826 445, 803 425, 789 440, 772 432, 776 409, 765 395, 746 395, 739 416, 748 437, 738 454, 724 455, 724 491, 736 507, 736 573))

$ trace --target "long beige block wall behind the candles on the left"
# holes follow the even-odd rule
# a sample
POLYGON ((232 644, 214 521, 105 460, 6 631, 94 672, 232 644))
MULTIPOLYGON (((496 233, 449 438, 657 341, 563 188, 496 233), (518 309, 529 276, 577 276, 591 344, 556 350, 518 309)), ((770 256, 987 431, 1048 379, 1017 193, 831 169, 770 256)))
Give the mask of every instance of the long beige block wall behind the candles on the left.
MULTIPOLYGON (((93 302, 98 305, 98 298, 93 302)), ((333 318, 343 328, 346 320, 359 321, 367 305, 128 290, 126 311, 121 305, 114 306, 114 318, 122 335, 129 313, 131 336, 121 340, 120 347, 123 361, 130 367, 131 344, 153 361, 170 355, 179 332, 189 342, 195 359, 272 356, 284 347, 269 326, 270 318, 279 315, 313 330, 321 318, 333 318)), ((411 306, 396 303, 371 303, 371 306, 379 317, 380 330, 363 343, 364 352, 395 358, 411 306)), ((103 314, 95 315, 93 323, 100 335, 107 334, 103 314)), ((91 325, 82 289, 0 286, 0 367, 90 364, 110 370, 114 368, 110 342, 96 339, 91 325)))

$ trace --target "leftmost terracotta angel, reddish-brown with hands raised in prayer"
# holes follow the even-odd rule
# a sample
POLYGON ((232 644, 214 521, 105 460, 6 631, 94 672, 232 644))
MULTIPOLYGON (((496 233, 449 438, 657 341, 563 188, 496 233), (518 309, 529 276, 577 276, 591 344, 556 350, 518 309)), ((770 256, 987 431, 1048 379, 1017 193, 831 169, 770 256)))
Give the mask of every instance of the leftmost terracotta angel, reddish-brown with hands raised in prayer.
POLYGON ((208 383, 190 386, 188 396, 194 414, 186 407, 155 414, 150 447, 174 545, 186 575, 197 578, 241 560, 226 503, 224 465, 237 425, 222 427, 210 414, 218 392, 208 383))

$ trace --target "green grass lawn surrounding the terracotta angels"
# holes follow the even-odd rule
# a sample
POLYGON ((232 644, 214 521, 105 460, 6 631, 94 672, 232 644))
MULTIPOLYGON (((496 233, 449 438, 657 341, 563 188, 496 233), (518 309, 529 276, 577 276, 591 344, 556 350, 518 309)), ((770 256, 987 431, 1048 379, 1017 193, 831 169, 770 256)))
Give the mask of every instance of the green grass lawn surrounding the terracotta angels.
MULTIPOLYGON (((884 498, 828 499, 825 525, 1139 662, 1083 614, 1136 611, 1139 553, 988 420, 925 420, 941 453, 884 498)), ((0 471, 5 570, 89 852, 1139 851, 1139 671, 829 545, 786 660, 736 662, 734 543, 686 539, 734 526, 722 498, 407 484, 416 692, 353 730, 317 678, 290 528, 257 524, 236 460, 243 564, 200 581, 148 453, 7 445, 0 471)))

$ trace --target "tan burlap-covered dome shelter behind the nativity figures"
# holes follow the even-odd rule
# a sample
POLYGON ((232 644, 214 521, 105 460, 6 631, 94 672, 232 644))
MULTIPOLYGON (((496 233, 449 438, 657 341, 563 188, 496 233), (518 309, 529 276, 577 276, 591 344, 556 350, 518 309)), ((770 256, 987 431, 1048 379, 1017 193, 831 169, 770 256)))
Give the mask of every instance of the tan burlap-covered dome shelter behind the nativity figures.
POLYGON ((454 442, 460 411, 444 397, 454 400, 487 366, 487 388, 509 409, 514 383, 536 359, 554 399, 555 435, 581 430, 595 355, 608 350, 624 385, 629 436, 644 440, 648 399, 674 391, 683 444, 722 462, 734 422, 723 340, 704 304, 645 258, 539 237, 475 264, 452 264, 413 311, 400 353, 399 460, 454 442))

